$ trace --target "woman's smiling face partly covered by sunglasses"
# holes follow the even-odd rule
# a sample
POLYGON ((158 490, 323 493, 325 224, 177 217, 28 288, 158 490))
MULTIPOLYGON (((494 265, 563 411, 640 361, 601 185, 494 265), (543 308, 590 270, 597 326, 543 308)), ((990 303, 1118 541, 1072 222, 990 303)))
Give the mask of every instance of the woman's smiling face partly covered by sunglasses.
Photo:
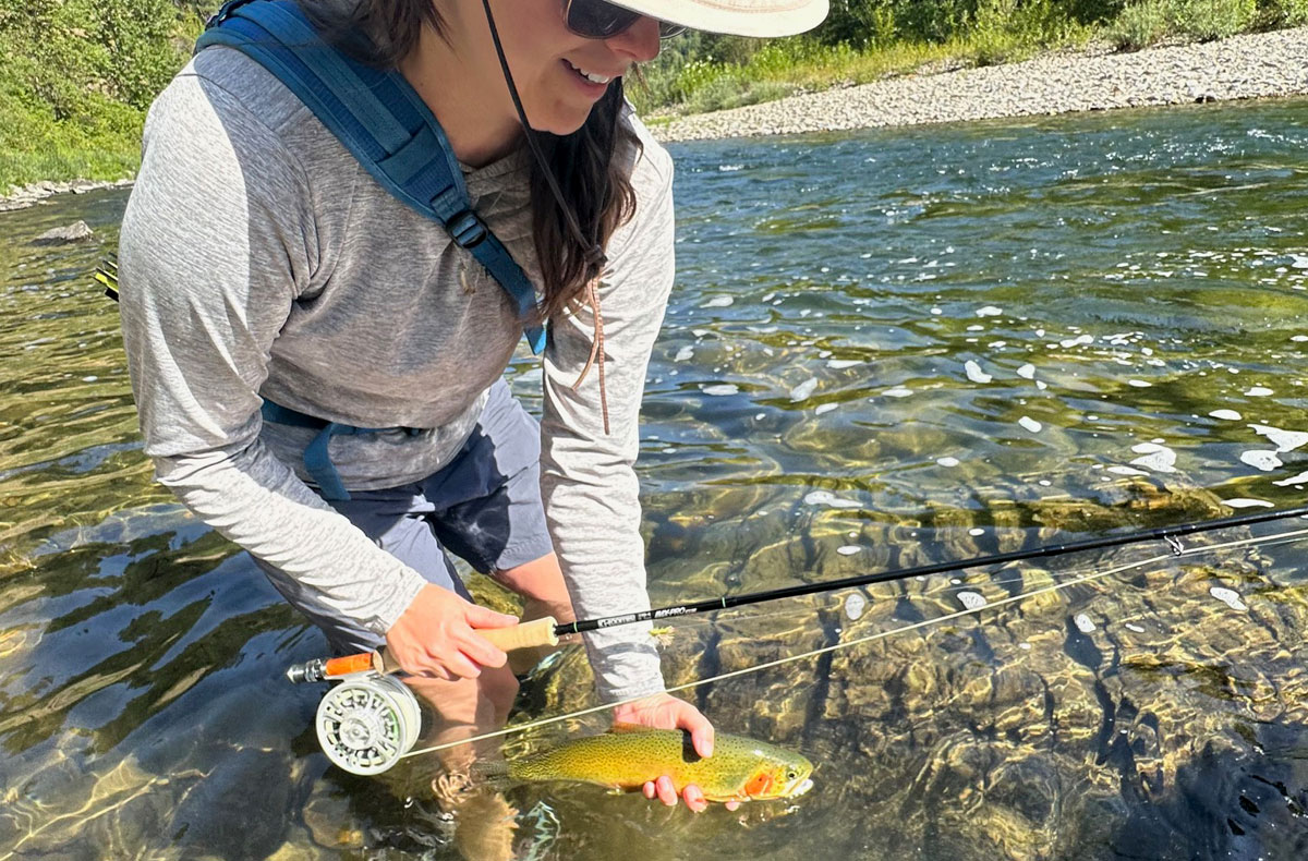
MULTIPOLYGON (((566 0, 490 0, 504 52, 518 86, 531 127, 569 135, 586 122, 590 109, 608 89, 610 81, 633 64, 658 55, 658 21, 638 18, 628 30, 608 39, 586 39, 564 24, 566 0)), ((501 93, 487 109, 509 111, 513 102, 502 84, 504 72, 490 41, 481 0, 458 0, 460 18, 468 25, 467 50, 455 48, 490 81, 488 93, 501 93), (480 25, 477 25, 480 20, 480 25), (498 82, 498 85, 494 85, 498 82)), ((453 35, 453 34, 451 34, 453 35)))

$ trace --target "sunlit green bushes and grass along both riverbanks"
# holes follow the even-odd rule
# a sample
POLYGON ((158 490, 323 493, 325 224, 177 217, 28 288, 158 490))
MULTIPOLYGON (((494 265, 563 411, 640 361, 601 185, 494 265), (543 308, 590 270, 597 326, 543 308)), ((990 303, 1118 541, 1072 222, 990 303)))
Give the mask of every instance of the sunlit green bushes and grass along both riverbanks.
MULTIPOLYGON (((150 99, 217 4, 0 0, 0 194, 131 174, 150 99)), ((1095 38, 1135 50, 1303 24, 1308 0, 832 0, 803 37, 675 39, 629 92, 657 120, 1095 38)))

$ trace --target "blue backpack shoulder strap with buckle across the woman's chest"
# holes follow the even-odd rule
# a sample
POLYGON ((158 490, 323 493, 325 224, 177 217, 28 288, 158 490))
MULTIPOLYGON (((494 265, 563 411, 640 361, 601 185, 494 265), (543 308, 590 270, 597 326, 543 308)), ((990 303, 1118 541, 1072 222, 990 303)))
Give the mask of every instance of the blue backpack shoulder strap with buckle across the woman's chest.
POLYGON ((211 44, 237 48, 272 72, 383 188, 441 222, 513 300, 531 352, 544 349, 531 279, 472 208, 445 131, 404 76, 326 44, 292 0, 230 0, 195 50, 211 44))

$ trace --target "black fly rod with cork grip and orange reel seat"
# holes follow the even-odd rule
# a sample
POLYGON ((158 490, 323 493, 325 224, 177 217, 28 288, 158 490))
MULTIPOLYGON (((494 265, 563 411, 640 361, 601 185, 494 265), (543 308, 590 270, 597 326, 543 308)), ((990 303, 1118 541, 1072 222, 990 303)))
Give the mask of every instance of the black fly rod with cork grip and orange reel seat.
MULTIPOLYGON (((689 616, 700 612, 714 612, 718 610, 743 607, 748 605, 763 603, 766 601, 799 598, 824 591, 836 591, 840 589, 869 586, 871 584, 908 580, 910 577, 923 577, 927 574, 939 574, 955 571, 971 571, 973 568, 984 568, 990 565, 1006 565, 1008 563, 1024 561, 1029 559, 1048 559, 1054 556, 1065 556, 1067 554, 1086 552, 1091 550, 1105 550, 1109 547, 1121 547, 1125 544, 1138 544, 1150 540, 1167 542, 1168 546, 1172 548, 1172 552, 1180 555, 1182 552, 1182 546, 1179 539, 1185 535, 1194 535, 1199 533, 1209 533, 1222 529, 1232 529, 1236 526, 1252 526, 1254 523, 1288 519, 1292 517, 1308 517, 1308 506, 1261 512, 1257 514, 1239 514, 1235 517, 1223 517, 1210 521, 1180 523, 1177 526, 1160 526, 1156 529, 1137 530, 1121 535, 1104 535, 1100 538, 1091 538, 1086 540, 1069 542, 1062 544, 1042 544, 1040 547, 1032 547, 1029 550, 1018 550, 1006 554, 994 554, 991 556, 977 556, 974 559, 963 561, 931 563, 929 565, 917 565, 914 568, 900 568, 895 571, 883 571, 870 574, 855 574, 853 577, 844 577, 840 580, 827 580, 811 584, 800 584, 797 586, 783 586, 781 589, 769 589, 764 591, 746 593, 742 595, 722 595, 721 598, 709 598, 706 601, 697 601, 683 605, 671 605, 667 607, 658 607, 654 610, 642 610, 640 612, 627 612, 613 616, 602 616, 596 619, 582 619, 578 622, 557 623, 553 618, 545 616, 544 619, 536 619, 534 622, 527 622, 518 625, 510 625, 506 628, 477 628, 477 635, 489 640, 493 645, 496 645, 504 652, 513 652, 515 649, 535 648, 535 646, 553 646, 559 644, 559 637, 562 636, 587 633, 591 631, 600 631, 606 628, 616 628, 620 625, 636 624, 641 622, 657 622, 661 619, 689 616)), ((373 670, 386 675, 391 673, 398 673, 399 669, 400 669, 399 665, 395 663, 395 661, 390 657, 390 654, 386 652, 383 646, 382 649, 370 653, 352 654, 331 659, 317 658, 313 661, 307 661, 305 663, 297 663, 286 670, 286 678, 289 678, 294 683, 323 682, 334 678, 340 678, 343 675, 348 675, 352 673, 360 673, 368 670, 373 670)))

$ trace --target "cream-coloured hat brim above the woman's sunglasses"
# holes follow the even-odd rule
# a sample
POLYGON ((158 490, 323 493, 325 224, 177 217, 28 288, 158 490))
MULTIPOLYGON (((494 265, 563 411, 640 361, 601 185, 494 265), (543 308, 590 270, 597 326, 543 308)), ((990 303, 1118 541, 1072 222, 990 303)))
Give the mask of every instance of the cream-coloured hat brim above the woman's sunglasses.
POLYGON ((610 0, 616 7, 692 30, 730 35, 781 37, 812 30, 827 17, 828 0, 610 0))

